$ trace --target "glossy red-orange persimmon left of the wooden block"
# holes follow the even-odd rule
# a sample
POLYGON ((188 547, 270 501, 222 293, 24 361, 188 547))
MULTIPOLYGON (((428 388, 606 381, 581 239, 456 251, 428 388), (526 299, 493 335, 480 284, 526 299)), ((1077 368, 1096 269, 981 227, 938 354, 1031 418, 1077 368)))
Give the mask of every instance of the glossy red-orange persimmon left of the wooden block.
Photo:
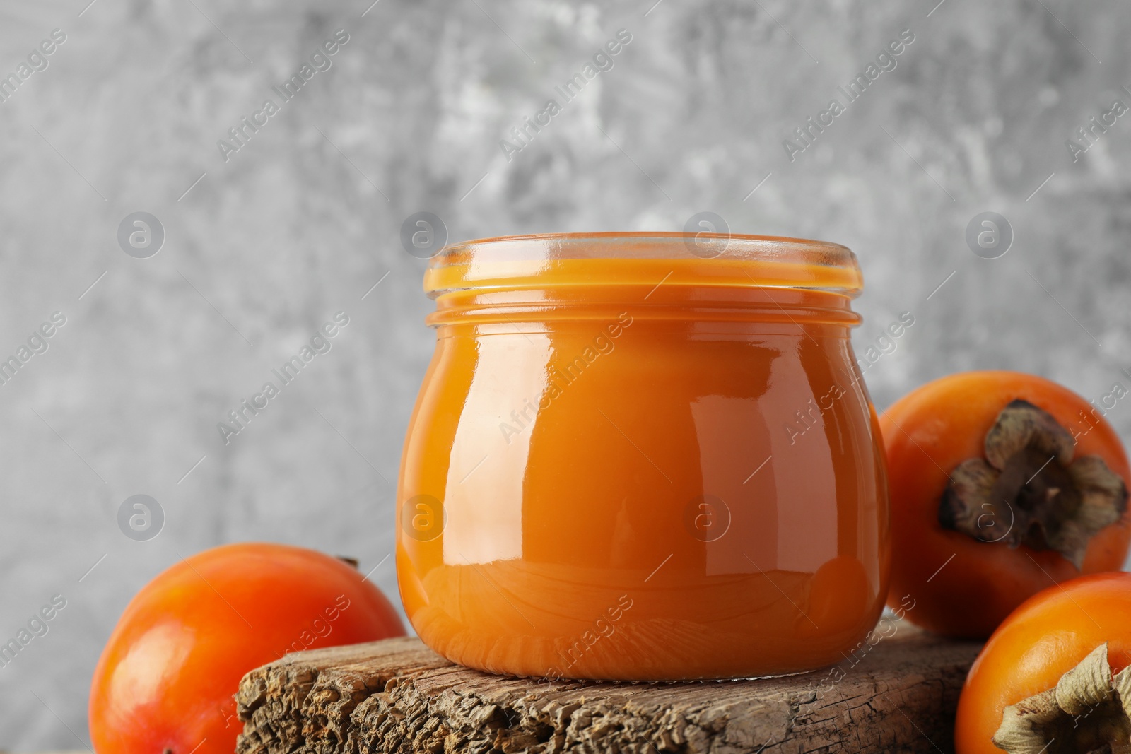
POLYGON ((385 595, 346 562, 245 543, 182 560, 118 621, 90 686, 98 754, 232 754, 240 678, 285 653, 405 630, 385 595))

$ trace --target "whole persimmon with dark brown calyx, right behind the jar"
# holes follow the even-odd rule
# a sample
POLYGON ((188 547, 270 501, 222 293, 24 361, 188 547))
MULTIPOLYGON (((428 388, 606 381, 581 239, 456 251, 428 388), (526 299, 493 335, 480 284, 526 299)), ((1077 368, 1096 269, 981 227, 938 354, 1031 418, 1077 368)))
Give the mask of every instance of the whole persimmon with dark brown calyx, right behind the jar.
MULTIPOLYGON (((1128 458, 1111 424, 1031 374, 966 372, 880 416, 891 588, 912 622, 982 639, 1018 605, 1128 553, 1128 458)), ((889 597, 890 600, 890 597, 889 597)))

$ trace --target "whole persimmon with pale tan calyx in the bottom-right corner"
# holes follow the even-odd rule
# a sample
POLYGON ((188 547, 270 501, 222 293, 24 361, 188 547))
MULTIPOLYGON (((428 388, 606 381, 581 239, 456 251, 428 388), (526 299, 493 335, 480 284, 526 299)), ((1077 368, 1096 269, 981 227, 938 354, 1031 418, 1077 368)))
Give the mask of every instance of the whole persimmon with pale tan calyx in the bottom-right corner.
POLYGON ((1048 587, 998 627, 958 702, 958 754, 1131 752, 1131 573, 1048 587))

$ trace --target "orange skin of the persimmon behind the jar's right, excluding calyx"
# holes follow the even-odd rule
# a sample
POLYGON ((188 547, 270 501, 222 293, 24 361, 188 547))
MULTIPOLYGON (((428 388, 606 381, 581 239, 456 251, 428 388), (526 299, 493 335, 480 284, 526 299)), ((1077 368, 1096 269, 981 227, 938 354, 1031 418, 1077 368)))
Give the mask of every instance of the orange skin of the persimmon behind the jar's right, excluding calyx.
MULTIPOLYGON (((1079 571, 1053 551, 1025 545, 1011 549, 940 526, 939 502, 949 473, 968 458, 984 456, 986 433, 1017 398, 1048 411, 1076 436, 1073 458, 1098 456, 1124 483, 1131 480, 1126 453, 1111 424, 1083 398, 1044 378, 964 372, 900 398, 880 416, 891 492, 888 604, 910 595, 915 609, 907 618, 930 631, 983 639, 1042 589, 1081 573, 1115 571, 1126 556, 1128 512, 1088 543, 1079 571)), ((1002 535, 1008 523, 1002 522, 1002 535)))

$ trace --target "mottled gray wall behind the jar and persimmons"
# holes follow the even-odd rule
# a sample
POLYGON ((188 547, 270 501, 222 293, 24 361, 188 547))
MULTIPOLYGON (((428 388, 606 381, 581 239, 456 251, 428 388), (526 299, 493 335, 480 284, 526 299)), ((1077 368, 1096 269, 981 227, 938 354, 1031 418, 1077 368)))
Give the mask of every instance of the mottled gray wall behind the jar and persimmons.
MULTIPOLYGON (((857 352, 915 318, 865 372, 881 409, 978 367, 1097 401, 1131 387, 1131 114, 1105 116, 1131 105, 1125 2, 371 1, 0 3, 0 76, 66 34, 0 103, 0 356, 67 318, 0 384, 0 639, 67 599, 0 668, 0 748, 87 745, 101 647, 181 556, 301 544, 396 593, 382 558, 432 350, 425 262, 399 240, 420 210, 451 240, 710 210, 847 244, 857 352), (333 66, 225 161, 217 140, 339 28, 333 66), (612 68, 563 104, 619 29, 612 68), (784 140, 804 146, 794 129, 904 29, 896 67, 791 161, 784 140), (550 98, 508 159, 500 140, 550 98), (1088 140, 1093 116, 1114 124, 1088 140), (164 228, 147 259, 118 241, 135 211, 164 228), (965 240, 984 211, 1012 228, 998 259, 965 240), (337 311, 330 353, 225 445, 217 422, 337 311), (135 494, 165 513, 148 541, 118 526, 135 494)), ((1108 417, 1131 436, 1131 400, 1108 417)))

